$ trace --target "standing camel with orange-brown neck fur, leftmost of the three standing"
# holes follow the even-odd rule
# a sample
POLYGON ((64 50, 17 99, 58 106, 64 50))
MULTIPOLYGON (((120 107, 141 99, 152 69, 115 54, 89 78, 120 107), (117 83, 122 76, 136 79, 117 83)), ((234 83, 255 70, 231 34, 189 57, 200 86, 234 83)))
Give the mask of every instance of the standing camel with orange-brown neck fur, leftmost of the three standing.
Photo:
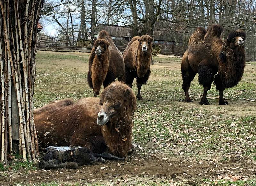
POLYGON ((102 84, 106 88, 116 78, 124 82, 124 58, 112 37, 107 31, 102 30, 94 42, 89 57, 87 81, 93 88, 94 97, 99 95, 102 84))

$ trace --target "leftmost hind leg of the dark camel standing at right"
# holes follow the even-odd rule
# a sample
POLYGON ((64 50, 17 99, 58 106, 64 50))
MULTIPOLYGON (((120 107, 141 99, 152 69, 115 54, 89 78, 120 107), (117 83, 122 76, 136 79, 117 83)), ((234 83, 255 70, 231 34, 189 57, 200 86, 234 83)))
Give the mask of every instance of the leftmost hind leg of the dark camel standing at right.
POLYGON ((185 92, 185 102, 192 102, 191 98, 189 97, 188 90, 191 84, 191 81, 193 81, 196 73, 191 68, 189 61, 188 61, 188 51, 186 51, 183 55, 183 58, 181 60, 181 75, 182 75, 182 89, 185 92))

